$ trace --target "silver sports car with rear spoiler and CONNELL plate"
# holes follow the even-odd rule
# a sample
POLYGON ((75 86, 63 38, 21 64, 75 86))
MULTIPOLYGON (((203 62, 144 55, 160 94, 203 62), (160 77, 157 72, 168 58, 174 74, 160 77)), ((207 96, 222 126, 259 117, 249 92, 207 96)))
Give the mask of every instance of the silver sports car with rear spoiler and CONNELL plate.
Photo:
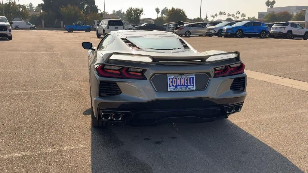
POLYGON ((239 52, 198 52, 164 31, 111 31, 82 46, 93 127, 228 118, 247 95, 239 52))

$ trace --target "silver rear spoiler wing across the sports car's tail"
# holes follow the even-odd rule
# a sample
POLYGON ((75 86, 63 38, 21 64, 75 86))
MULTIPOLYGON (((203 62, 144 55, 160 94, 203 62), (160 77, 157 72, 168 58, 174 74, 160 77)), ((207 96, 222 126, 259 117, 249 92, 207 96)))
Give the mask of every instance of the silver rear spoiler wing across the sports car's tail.
MULTIPOLYGON (((192 63, 192 64, 205 64, 206 62, 219 62, 219 61, 224 61, 224 60, 227 60, 227 59, 232 59, 232 58, 235 58, 237 61, 239 61, 241 58, 240 58, 240 53, 238 51, 234 51, 234 52, 225 52, 225 53, 221 53, 221 54, 210 54, 210 55, 203 55, 203 56, 191 56, 191 57, 166 57, 166 56, 148 56, 148 55, 142 55, 142 54, 130 54, 130 53, 119 53, 119 52, 112 52, 110 53, 107 58, 105 59, 105 62, 107 62, 112 55, 114 54, 119 54, 119 55, 132 55, 132 56, 144 56, 144 57, 150 57, 152 58, 152 62, 148 62, 148 61, 145 61, 145 62, 148 62, 148 63, 155 63, 155 64, 159 64, 159 63, 176 63, 176 64, 180 64, 180 63, 185 63, 185 64, 188 64, 188 63, 192 63), (234 57, 232 56, 229 56, 228 55, 231 55, 231 54, 235 54, 234 57), (220 56, 220 55, 226 55, 225 57, 224 56, 220 56), (212 57, 213 59, 211 60, 208 60, 210 57, 212 57), (217 60, 215 60, 217 59, 217 60), (207 61, 208 60, 208 61, 207 61)), ((120 60, 120 59, 117 59, 117 60, 120 60)), ((122 60, 122 61, 129 61, 127 59, 125 60, 122 60)), ((132 61, 132 62, 140 62, 140 61, 132 61)), ((144 63, 144 62, 143 62, 144 63)))

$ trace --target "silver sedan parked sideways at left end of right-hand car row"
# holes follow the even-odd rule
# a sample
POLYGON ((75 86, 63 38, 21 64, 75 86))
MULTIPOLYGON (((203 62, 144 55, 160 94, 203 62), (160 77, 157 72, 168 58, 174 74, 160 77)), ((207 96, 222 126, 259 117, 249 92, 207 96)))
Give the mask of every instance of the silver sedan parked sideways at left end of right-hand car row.
POLYGON ((206 28, 202 25, 196 24, 196 23, 189 23, 184 26, 181 26, 178 30, 173 31, 174 34, 177 34, 179 36, 185 35, 186 37, 189 37, 191 35, 205 35, 206 28))

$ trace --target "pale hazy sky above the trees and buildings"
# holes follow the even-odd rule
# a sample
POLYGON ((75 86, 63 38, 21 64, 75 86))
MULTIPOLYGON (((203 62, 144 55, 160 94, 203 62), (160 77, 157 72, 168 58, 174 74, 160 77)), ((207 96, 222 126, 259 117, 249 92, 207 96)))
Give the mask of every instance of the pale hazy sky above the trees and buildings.
MULTIPOLYGON (((18 0, 15 0, 18 2, 18 0)), ((227 14, 235 14, 237 10, 246 14, 247 17, 255 16, 257 18, 258 12, 267 11, 265 6, 266 0, 202 0, 201 17, 208 18, 219 11, 225 11, 227 14), (213 3, 214 2, 214 3, 213 3)), ((3 0, 7 2, 7 0, 3 0)), ((43 3, 42 0, 19 0, 21 4, 29 4, 30 2, 36 6, 39 3, 43 3)), ((104 10, 104 0, 95 0, 95 4, 102 11, 104 10)), ((188 18, 197 18, 200 16, 200 0, 105 0, 105 10, 112 13, 113 10, 126 11, 129 7, 142 7, 144 9, 144 15, 141 18, 156 18, 157 14, 155 8, 160 10, 164 7, 181 8, 186 12, 188 18)), ((281 6, 308 6, 308 0, 276 0, 274 7, 281 6)), ((225 16, 226 18, 226 16, 225 16)), ((219 15, 217 17, 219 19, 219 15)), ((221 19, 223 17, 221 16, 221 19)))

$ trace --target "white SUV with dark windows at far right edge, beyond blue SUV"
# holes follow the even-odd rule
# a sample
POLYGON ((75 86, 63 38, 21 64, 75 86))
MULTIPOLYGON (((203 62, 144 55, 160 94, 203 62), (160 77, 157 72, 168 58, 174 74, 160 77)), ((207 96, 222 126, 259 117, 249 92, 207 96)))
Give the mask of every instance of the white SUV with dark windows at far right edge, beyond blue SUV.
POLYGON ((308 29, 302 27, 298 23, 280 22, 275 23, 270 31, 272 38, 282 37, 286 39, 293 39, 295 37, 302 37, 304 40, 308 39, 308 29))

